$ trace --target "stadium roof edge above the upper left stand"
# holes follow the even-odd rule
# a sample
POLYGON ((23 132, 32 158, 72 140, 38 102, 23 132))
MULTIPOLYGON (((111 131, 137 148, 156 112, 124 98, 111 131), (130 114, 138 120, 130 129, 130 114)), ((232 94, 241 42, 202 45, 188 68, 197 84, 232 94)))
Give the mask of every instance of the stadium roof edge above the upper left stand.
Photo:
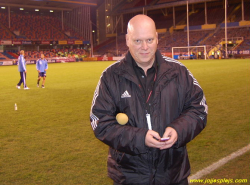
POLYGON ((99 0, 0 0, 1 7, 39 8, 53 10, 72 10, 79 6, 97 6, 99 0))

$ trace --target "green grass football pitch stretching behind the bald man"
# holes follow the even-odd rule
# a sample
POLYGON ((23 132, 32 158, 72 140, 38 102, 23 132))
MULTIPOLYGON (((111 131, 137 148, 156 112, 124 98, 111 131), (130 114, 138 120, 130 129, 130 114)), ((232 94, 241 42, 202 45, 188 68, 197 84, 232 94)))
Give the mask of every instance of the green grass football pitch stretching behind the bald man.
MULTIPOLYGON (((193 174, 249 144, 250 61, 181 62, 200 83, 209 106, 206 129, 188 144, 193 174)), ((89 122, 96 84, 112 63, 49 64, 45 89, 36 87, 36 67, 28 65, 30 90, 15 88, 17 66, 0 66, 1 185, 112 184, 108 148, 94 137, 89 122)))

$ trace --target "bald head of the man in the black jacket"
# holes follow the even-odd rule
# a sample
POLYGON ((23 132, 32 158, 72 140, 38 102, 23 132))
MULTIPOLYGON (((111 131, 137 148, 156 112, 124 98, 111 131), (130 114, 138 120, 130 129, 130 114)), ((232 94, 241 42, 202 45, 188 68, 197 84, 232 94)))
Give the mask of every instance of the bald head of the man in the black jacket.
POLYGON ((138 66, 151 66, 155 60, 158 44, 154 21, 146 15, 136 15, 130 19, 126 44, 138 66))

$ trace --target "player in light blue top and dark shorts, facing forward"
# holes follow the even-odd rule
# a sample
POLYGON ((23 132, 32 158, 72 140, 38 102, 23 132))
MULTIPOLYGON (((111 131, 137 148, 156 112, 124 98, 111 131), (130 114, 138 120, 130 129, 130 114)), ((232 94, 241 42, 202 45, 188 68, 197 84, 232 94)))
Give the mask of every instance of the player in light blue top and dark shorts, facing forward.
POLYGON ((45 84, 46 71, 48 69, 48 61, 44 58, 44 54, 41 54, 41 58, 36 61, 36 69, 38 71, 37 87, 39 87, 39 82, 43 77, 42 88, 45 84))

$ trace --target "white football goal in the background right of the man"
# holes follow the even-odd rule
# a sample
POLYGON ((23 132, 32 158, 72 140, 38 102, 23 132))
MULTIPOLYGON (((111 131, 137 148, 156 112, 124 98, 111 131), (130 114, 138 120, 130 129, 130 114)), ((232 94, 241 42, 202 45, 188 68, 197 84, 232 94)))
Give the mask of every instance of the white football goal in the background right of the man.
POLYGON ((173 59, 207 59, 211 46, 183 46, 172 47, 173 59))

